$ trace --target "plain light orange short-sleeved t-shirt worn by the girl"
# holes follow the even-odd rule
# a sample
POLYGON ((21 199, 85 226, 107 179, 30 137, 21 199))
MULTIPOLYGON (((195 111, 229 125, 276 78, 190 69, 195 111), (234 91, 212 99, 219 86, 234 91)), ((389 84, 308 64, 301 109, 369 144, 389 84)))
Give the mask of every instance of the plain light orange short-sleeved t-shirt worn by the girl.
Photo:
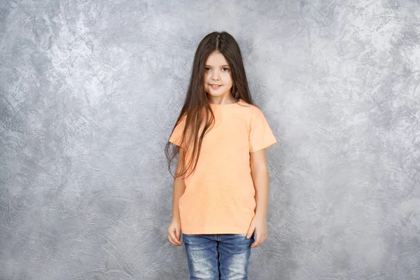
MULTIPOLYGON (((181 231, 187 235, 245 234, 255 216, 255 188, 249 153, 276 143, 258 107, 239 99, 211 104, 215 123, 204 136, 193 174, 179 199, 181 231)), ((169 141, 181 146, 185 118, 169 141)), ((188 175, 190 171, 186 175, 188 175)))

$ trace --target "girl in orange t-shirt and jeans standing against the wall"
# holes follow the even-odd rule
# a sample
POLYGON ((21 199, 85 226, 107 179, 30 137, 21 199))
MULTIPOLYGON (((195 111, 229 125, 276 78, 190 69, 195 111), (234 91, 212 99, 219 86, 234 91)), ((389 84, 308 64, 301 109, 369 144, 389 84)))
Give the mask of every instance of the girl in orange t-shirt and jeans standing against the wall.
POLYGON ((165 146, 169 172, 179 153, 167 236, 181 246, 182 230, 190 279, 248 279, 251 248, 267 237, 265 148, 275 143, 251 100, 237 41, 208 34, 165 146))

